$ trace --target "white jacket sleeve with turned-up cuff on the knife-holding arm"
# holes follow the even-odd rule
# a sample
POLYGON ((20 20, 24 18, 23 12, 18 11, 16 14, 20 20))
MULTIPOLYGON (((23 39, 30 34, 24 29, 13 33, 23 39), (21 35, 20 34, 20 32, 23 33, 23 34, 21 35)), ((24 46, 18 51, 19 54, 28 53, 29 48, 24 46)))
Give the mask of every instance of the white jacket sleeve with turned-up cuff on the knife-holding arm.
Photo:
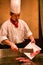
POLYGON ((7 26, 6 24, 3 24, 0 28, 0 44, 5 39, 8 39, 7 38, 7 26))

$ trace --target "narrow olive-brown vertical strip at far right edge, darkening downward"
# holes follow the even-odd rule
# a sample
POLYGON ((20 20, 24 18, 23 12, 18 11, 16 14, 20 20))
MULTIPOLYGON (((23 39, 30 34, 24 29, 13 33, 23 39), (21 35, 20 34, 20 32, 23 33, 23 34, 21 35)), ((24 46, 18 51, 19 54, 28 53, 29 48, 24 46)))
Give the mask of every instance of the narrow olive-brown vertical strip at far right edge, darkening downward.
POLYGON ((39 0, 39 46, 43 52, 43 0, 39 0))

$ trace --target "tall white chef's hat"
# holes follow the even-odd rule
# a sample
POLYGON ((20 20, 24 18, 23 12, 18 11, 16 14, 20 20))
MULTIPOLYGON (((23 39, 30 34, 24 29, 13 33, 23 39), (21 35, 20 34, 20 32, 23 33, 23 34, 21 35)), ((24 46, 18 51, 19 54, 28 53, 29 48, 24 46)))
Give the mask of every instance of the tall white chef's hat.
POLYGON ((20 13, 21 0, 11 0, 11 12, 20 13))

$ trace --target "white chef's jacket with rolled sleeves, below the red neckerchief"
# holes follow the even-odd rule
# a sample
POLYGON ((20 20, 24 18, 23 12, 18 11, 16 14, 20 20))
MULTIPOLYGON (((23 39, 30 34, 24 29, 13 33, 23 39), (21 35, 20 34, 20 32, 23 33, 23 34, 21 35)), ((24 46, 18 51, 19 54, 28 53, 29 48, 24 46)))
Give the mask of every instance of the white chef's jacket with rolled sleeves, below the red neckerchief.
POLYGON ((10 22, 10 19, 2 24, 0 29, 0 43, 5 39, 9 39, 13 43, 21 43, 24 39, 32 35, 26 22, 21 19, 18 21, 17 28, 10 22))

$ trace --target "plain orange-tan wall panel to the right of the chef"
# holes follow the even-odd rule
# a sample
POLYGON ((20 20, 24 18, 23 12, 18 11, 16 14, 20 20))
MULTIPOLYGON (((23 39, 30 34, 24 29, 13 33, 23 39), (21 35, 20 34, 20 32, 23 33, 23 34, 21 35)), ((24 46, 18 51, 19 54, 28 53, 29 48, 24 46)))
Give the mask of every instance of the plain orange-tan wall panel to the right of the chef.
POLYGON ((21 18, 30 27, 35 38, 39 38, 38 0, 22 0, 21 18))

